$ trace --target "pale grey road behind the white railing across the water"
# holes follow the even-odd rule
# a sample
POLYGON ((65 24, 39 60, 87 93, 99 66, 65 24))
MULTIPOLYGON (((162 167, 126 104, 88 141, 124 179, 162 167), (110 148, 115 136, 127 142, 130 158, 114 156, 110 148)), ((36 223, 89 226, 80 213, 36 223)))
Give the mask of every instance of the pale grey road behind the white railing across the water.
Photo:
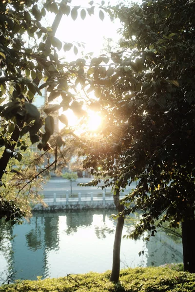
MULTIPOLYGON (((86 195, 87 193, 93 192, 94 194, 102 193, 102 189, 97 186, 79 186, 78 183, 88 183, 92 179, 88 178, 78 178, 76 182, 72 183, 73 194, 81 193, 81 195, 86 195)), ((99 184, 103 185, 103 182, 99 184)), ((131 191, 132 188, 136 187, 136 183, 132 183, 125 193, 131 191)), ((52 178, 47 183, 43 184, 43 195, 45 198, 53 196, 54 193, 57 196, 65 195, 66 191, 70 194, 70 182, 61 178, 52 178)), ((106 188, 106 192, 111 192, 111 188, 106 188)))

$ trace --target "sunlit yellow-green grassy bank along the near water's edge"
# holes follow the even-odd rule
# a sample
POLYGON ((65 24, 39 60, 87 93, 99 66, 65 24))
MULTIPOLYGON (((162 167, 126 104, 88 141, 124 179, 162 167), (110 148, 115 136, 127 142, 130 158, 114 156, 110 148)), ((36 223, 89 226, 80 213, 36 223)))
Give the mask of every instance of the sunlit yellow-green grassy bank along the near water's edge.
POLYGON ((62 278, 17 281, 2 285, 0 292, 195 292, 195 274, 177 271, 180 266, 121 270, 120 282, 102 274, 70 274, 62 278))

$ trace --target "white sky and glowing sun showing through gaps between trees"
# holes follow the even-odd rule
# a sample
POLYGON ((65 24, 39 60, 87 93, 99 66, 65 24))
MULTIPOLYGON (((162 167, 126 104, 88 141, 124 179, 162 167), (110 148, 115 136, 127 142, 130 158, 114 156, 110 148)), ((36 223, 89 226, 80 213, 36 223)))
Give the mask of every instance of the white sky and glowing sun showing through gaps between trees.
MULTIPOLYGON (((86 18, 84 20, 80 17, 80 10, 82 8, 91 7, 88 4, 89 0, 72 0, 70 5, 77 6, 80 5, 81 7, 78 9, 78 18, 74 21, 69 16, 63 16, 62 20, 59 24, 56 37, 64 42, 75 43, 77 42, 85 43, 85 48, 79 48, 78 46, 78 55, 75 55, 73 49, 69 52, 64 53, 63 45, 61 51, 58 53, 61 56, 65 56, 66 60, 72 61, 76 60, 79 57, 82 57, 82 54, 85 55, 87 53, 93 52, 94 56, 98 56, 102 54, 102 49, 104 46, 105 38, 112 38, 114 42, 117 43, 120 36, 117 34, 117 29, 120 27, 120 22, 118 19, 115 19, 114 22, 111 21, 110 17, 107 13, 104 12, 104 19, 103 21, 99 18, 99 8, 98 3, 101 3, 101 0, 94 1, 97 4, 95 8, 95 13, 92 16, 89 16, 88 13, 86 14, 86 18)), ((119 1, 118 0, 110 0, 110 5, 116 5, 119 1)), ((125 2, 125 0, 124 0, 125 2)), ((127 1, 130 2, 130 1, 127 1)), ((105 6, 107 5, 108 1, 105 0, 105 6)), ((47 22, 50 25, 53 22, 55 15, 54 13, 49 14, 49 18, 47 18, 47 22)), ((77 126, 78 119, 73 114, 72 110, 68 110, 63 112, 69 121, 69 126, 77 126)), ((102 117, 100 113, 95 111, 87 111, 88 113, 88 122, 86 128, 89 132, 98 132, 99 128, 102 126, 102 117)), ((59 113, 60 114, 60 113, 59 113)), ((64 125, 59 122, 59 128, 62 128, 64 125)))

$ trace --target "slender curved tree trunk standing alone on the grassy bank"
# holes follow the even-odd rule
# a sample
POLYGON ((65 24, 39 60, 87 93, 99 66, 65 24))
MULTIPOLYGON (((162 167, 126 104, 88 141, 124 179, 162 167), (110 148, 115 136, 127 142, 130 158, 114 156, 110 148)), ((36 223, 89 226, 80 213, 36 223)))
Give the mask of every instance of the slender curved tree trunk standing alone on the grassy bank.
MULTIPOLYGON (((114 195, 114 202, 117 207, 118 212, 124 210, 124 206, 119 204, 119 190, 117 190, 117 194, 114 195)), ((110 276, 110 281, 117 283, 119 280, 120 274, 120 244, 122 238, 122 229, 124 225, 124 216, 119 216, 117 219, 117 227, 115 232, 115 242, 113 248, 113 267, 112 273, 110 276)))

